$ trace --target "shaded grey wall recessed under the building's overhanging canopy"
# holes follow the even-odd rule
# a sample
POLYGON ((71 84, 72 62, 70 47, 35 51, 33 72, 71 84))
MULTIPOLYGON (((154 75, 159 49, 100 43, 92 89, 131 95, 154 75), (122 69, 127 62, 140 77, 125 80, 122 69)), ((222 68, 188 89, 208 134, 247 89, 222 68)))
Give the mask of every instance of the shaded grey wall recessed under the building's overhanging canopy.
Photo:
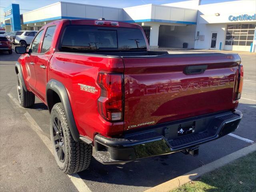
POLYGON ((195 25, 187 26, 160 26, 158 44, 161 47, 182 48, 188 43, 188 48, 194 48, 195 25))

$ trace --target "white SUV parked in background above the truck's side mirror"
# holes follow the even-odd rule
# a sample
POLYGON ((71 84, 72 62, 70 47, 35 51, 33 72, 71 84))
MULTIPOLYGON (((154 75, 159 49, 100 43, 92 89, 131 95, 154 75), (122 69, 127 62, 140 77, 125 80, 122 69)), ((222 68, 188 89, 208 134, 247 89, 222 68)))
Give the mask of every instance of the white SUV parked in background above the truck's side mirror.
POLYGON ((28 44, 31 44, 36 33, 37 31, 17 31, 14 36, 13 42, 15 44, 20 44, 20 46, 26 47, 28 46, 28 44))

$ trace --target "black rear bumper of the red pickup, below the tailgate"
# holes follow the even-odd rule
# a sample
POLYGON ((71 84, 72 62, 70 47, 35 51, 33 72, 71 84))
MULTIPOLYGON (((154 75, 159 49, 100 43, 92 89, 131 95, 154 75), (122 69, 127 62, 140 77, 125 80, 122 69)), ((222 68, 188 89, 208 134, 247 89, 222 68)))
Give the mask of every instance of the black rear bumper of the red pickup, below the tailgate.
POLYGON ((241 119, 242 113, 235 110, 150 126, 128 132, 123 138, 106 138, 97 134, 93 156, 102 164, 120 164, 170 154, 229 134, 236 130, 241 119), (178 129, 190 124, 195 125, 194 132, 178 136, 178 129))

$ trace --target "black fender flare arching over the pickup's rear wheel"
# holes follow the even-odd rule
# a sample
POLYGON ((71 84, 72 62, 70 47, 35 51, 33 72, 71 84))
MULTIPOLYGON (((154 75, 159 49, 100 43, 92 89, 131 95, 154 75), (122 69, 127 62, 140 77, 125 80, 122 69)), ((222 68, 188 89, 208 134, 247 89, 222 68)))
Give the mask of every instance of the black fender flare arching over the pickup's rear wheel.
POLYGON ((52 105, 49 106, 50 103, 53 103, 52 97, 48 97, 51 92, 54 91, 60 97, 62 105, 64 107, 64 111, 66 114, 66 118, 68 121, 68 126, 70 132, 76 142, 79 142, 79 133, 76 127, 76 122, 74 120, 74 115, 71 109, 71 105, 68 98, 68 93, 66 91, 65 86, 59 82, 58 80, 51 79, 46 85, 46 102, 48 105, 49 112, 52 110, 52 105))

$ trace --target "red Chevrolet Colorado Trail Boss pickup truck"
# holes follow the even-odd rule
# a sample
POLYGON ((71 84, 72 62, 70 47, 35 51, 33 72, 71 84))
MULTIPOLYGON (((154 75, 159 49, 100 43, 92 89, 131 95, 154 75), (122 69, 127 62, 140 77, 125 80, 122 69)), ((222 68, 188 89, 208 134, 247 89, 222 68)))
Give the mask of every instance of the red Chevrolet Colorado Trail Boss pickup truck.
POLYGON ((48 106, 60 169, 183 152, 238 127, 238 54, 150 51, 141 26, 58 20, 40 29, 15 66, 20 105, 48 106), (92 148, 94 148, 92 152, 92 148))

